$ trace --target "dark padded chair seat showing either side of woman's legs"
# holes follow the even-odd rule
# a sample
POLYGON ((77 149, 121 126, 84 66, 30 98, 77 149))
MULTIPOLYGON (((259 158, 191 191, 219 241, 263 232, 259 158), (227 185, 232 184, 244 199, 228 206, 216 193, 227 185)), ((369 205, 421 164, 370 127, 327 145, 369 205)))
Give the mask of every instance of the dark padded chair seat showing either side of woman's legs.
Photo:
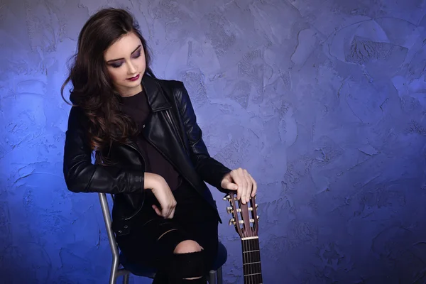
MULTIPOLYGON (((210 270, 217 271, 224 265, 224 263, 226 263, 227 258, 228 252, 226 251, 225 246, 219 241, 217 247, 217 257, 214 260, 213 267, 210 268, 210 270)), ((130 271, 134 275, 148 277, 151 279, 155 277, 155 268, 142 266, 140 263, 132 263, 131 261, 127 261, 123 253, 120 253, 119 262, 121 263, 121 266, 124 267, 124 269, 130 271)))

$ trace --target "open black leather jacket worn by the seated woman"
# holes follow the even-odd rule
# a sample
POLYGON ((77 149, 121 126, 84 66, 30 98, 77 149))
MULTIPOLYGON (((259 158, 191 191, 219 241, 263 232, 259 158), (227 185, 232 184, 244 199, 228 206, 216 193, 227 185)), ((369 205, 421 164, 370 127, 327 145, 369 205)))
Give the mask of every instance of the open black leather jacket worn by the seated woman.
MULTIPOLYGON (((217 213, 216 202, 204 181, 226 193, 220 182, 231 170, 210 157, 183 83, 145 75, 142 85, 152 110, 143 136, 165 155, 182 178, 195 187, 217 213)), ((67 188, 72 192, 113 194, 114 231, 123 231, 123 226, 129 226, 126 222, 143 206, 146 191, 143 190, 145 166, 142 155, 136 141, 127 145, 113 144, 107 150, 114 165, 92 164, 92 151, 84 126, 86 121, 79 107, 71 108, 63 165, 67 188)), ((218 213, 217 217, 221 222, 218 213)))

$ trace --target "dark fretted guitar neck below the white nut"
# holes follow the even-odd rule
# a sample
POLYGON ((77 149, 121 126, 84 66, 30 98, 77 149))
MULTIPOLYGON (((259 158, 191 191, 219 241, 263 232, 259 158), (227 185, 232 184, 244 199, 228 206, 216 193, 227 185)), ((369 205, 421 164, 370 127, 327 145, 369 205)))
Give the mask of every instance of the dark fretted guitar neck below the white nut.
POLYGON ((261 250, 257 236, 242 238, 245 284, 262 284, 261 250))

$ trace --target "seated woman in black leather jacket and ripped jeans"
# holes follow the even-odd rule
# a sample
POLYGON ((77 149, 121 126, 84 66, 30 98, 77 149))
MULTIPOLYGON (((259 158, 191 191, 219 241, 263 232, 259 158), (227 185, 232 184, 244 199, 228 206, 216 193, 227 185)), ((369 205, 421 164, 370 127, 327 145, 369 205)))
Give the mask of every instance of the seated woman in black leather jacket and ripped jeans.
POLYGON ((61 89, 63 98, 72 83, 65 181, 72 192, 114 196, 119 248, 157 268, 155 283, 206 283, 220 218, 204 181, 244 203, 256 182, 209 156, 185 87, 155 78, 138 28, 130 13, 103 9, 80 32, 61 89))

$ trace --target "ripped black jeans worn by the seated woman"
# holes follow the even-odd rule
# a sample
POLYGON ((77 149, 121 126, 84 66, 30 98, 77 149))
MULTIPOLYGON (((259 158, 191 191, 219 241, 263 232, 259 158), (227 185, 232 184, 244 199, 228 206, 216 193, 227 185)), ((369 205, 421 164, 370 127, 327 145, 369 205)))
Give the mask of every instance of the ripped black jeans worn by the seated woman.
POLYGON ((173 219, 159 217, 152 204, 158 201, 147 195, 142 214, 138 214, 141 226, 130 234, 117 236, 119 248, 129 261, 141 263, 163 271, 173 261, 175 247, 181 241, 197 241, 204 248, 204 275, 214 263, 217 256, 217 217, 214 210, 187 182, 173 191, 177 206, 173 219))

